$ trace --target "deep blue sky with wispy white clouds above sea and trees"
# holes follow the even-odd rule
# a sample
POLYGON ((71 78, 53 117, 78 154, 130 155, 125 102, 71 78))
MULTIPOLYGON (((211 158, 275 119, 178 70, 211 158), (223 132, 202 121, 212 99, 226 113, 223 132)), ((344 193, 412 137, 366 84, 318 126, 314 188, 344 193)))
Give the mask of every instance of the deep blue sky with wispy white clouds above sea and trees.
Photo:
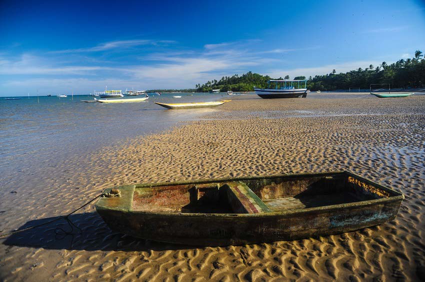
POLYGON ((424 27, 419 0, 1 0, 0 95, 345 72, 425 52, 424 27))

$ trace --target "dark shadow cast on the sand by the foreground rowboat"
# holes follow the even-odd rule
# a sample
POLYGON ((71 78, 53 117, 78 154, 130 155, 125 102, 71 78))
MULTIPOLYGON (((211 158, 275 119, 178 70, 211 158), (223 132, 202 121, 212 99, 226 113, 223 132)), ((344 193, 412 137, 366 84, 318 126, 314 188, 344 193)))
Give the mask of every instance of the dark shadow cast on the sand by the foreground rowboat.
POLYGON ((85 250, 85 251, 164 251, 193 249, 193 246, 174 245, 152 242, 112 232, 96 213, 82 213, 69 216, 75 227, 60 217, 50 217, 31 220, 18 230, 31 226, 42 226, 13 234, 2 239, 7 246, 44 248, 54 250, 85 250), (48 223, 48 224, 46 224, 48 223), (78 230, 80 229, 80 230, 78 230), (71 233, 71 234, 68 234, 71 233))

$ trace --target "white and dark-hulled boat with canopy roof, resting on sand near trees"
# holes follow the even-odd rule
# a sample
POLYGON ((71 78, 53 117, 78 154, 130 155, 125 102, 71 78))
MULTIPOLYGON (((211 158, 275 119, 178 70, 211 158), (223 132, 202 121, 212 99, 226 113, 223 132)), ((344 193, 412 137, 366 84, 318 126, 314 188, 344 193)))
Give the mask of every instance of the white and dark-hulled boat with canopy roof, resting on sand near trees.
POLYGON ((263 99, 271 98, 305 98, 310 90, 307 90, 307 79, 271 79, 267 82, 267 88, 255 88, 255 93, 263 99))

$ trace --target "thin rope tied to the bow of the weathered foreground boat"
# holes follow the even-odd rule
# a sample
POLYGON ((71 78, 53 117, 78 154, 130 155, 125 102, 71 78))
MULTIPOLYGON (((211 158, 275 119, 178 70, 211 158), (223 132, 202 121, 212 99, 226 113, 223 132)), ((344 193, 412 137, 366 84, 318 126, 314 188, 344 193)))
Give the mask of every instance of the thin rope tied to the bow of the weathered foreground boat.
POLYGON ((69 216, 72 215, 72 214, 74 214, 75 212, 79 211, 80 209, 84 208, 85 206, 87 206, 88 204, 90 204, 91 202, 93 202, 94 200, 96 200, 99 197, 107 197, 107 198, 115 197, 115 196, 121 197, 121 191, 118 190, 118 192, 116 192, 116 191, 112 191, 112 190, 118 190, 118 189, 111 189, 111 192, 110 193, 102 193, 102 194, 97 195, 96 197, 94 197, 93 199, 91 199, 90 201, 88 201, 87 203, 85 203, 84 205, 82 205, 81 207, 79 207, 78 209, 72 211, 71 213, 69 213, 69 214, 67 214, 65 216, 59 216, 58 218, 56 218, 54 220, 51 220, 51 221, 48 221, 48 222, 45 222, 45 223, 41 223, 41 224, 38 224, 38 225, 30 226, 28 228, 19 229, 19 230, 10 232, 10 233, 0 234, 0 239, 5 239, 5 238, 7 238, 7 237, 9 237, 11 235, 14 235, 16 233, 23 232, 23 231, 28 231, 28 230, 31 230, 31 229, 34 229, 34 228, 37 228, 37 227, 40 227, 40 226, 43 226, 43 225, 47 225, 47 224, 50 224, 52 222, 55 222, 55 221, 58 221, 58 220, 61 220, 61 219, 66 220, 66 222, 68 223, 68 225, 71 227, 71 231, 65 231, 62 228, 57 227, 54 230, 54 233, 56 235, 63 236, 61 238, 64 238, 67 235, 72 235, 73 234, 74 227, 79 230, 79 233, 81 233, 81 229, 79 227, 77 227, 75 224, 72 223, 72 221, 69 219, 69 216))

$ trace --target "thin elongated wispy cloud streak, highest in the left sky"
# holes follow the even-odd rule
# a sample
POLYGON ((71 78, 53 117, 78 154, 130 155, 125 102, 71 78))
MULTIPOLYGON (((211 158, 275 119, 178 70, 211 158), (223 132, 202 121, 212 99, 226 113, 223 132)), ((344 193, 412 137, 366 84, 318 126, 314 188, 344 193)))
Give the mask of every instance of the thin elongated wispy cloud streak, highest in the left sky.
POLYGON ((80 52, 98 52, 106 51, 118 48, 130 48, 134 46, 141 45, 159 45, 159 44, 171 44, 175 43, 174 40, 149 40, 149 39, 133 39, 133 40, 118 40, 118 41, 109 41, 98 44, 93 47, 88 48, 77 48, 77 49, 66 49, 66 50, 57 50, 51 51, 50 53, 80 53, 80 52))

